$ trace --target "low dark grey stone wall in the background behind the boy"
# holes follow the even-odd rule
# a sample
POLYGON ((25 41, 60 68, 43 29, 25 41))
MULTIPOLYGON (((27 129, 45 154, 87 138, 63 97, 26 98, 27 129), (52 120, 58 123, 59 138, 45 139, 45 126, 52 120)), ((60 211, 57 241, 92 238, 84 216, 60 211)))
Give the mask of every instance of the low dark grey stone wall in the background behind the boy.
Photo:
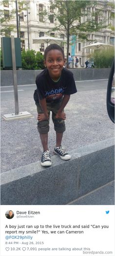
MULTIPOLYGON (((82 80, 95 80, 95 79, 108 79, 110 68, 106 69, 70 69, 73 74, 75 81, 82 80)), ((42 70, 17 70, 17 84, 35 84, 37 75, 42 70)), ((12 70, 1 70, 1 86, 13 85, 13 72, 12 70)))

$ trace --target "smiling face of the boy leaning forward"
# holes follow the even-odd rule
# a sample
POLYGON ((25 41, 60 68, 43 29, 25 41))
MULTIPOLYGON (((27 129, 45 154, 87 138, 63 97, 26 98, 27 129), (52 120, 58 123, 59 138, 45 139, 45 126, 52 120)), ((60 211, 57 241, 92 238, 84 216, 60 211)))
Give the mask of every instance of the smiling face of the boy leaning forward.
POLYGON ((47 67, 50 77, 53 80, 58 80, 64 65, 62 52, 59 50, 48 51, 44 65, 47 67))

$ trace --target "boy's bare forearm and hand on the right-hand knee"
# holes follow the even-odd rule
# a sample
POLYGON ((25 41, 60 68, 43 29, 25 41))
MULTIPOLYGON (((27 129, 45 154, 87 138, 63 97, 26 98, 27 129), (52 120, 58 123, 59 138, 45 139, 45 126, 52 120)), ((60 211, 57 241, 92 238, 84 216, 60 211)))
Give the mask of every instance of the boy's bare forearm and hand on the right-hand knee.
POLYGON ((63 100, 61 102, 60 108, 58 109, 58 113, 56 115, 56 118, 62 118, 62 119, 66 119, 66 115, 63 112, 64 107, 67 105, 67 103, 69 102, 70 99, 70 95, 64 94, 63 96, 63 100))

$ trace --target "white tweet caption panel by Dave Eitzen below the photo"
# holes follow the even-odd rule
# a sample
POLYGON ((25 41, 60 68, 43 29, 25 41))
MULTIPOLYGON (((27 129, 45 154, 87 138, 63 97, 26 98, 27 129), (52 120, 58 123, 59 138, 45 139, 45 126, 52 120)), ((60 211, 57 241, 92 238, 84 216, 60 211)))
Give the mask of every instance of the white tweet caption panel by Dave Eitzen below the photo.
POLYGON ((114 205, 1 205, 0 256, 115 256, 114 205))

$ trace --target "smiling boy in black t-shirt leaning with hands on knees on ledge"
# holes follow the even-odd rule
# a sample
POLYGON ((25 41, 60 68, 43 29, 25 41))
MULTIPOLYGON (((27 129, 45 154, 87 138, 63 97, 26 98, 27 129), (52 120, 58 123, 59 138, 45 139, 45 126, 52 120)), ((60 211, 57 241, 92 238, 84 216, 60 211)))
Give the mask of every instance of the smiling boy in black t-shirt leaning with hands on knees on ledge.
POLYGON ((37 89, 34 93, 34 100, 38 111, 38 131, 43 146, 41 157, 42 166, 52 164, 50 151, 48 148, 49 115, 52 111, 52 120, 56 131, 55 154, 61 159, 69 160, 71 156, 67 154, 61 141, 65 131, 66 115, 64 107, 69 102, 70 95, 77 92, 73 73, 63 68, 64 52, 56 44, 49 45, 44 52, 44 69, 37 77, 37 89))

